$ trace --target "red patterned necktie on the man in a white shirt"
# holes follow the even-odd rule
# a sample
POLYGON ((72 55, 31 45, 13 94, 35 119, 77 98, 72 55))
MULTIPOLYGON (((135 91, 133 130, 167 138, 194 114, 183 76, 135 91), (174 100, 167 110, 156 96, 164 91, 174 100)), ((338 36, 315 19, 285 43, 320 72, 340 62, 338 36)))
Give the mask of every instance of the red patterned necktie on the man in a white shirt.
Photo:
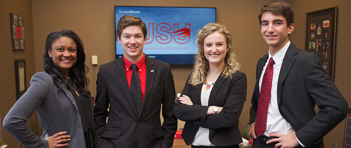
POLYGON ((266 131, 268 105, 271 99, 272 78, 273 78, 273 57, 269 59, 266 71, 261 83, 260 98, 258 101, 255 131, 257 136, 261 136, 266 131))

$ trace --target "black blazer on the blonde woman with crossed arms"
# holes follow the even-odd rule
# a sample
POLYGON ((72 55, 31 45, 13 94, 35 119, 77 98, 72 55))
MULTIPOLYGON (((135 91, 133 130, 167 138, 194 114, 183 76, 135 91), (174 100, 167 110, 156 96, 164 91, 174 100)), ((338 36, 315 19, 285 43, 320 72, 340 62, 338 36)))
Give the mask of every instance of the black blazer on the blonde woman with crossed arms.
POLYGON ((224 107, 221 112, 206 116, 208 106, 201 105, 202 83, 196 87, 188 84, 184 86, 182 95, 190 97, 194 105, 186 105, 177 101, 174 113, 179 120, 185 121, 181 134, 186 145, 190 145, 199 126, 210 129, 210 142, 216 146, 231 146, 243 142, 238 128, 238 119, 246 100, 246 75, 237 71, 230 77, 221 75, 211 90, 208 106, 224 107))

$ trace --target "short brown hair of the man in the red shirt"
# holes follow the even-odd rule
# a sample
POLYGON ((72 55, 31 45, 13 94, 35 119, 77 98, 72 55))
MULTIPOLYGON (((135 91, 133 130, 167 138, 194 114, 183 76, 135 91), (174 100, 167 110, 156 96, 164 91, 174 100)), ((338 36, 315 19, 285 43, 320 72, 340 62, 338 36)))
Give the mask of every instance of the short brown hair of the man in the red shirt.
POLYGON ((141 28, 141 31, 143 31, 144 39, 146 38, 147 30, 145 23, 139 17, 135 17, 132 15, 125 15, 122 16, 121 19, 119 19, 117 24, 116 35, 119 38, 121 38, 122 31, 128 26, 139 26, 141 28))

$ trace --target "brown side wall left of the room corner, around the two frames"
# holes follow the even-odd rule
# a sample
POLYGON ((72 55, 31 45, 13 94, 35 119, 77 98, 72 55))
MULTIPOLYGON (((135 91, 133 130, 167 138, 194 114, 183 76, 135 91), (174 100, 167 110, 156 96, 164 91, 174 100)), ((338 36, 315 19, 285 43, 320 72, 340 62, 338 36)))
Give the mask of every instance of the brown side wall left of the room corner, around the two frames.
MULTIPOLYGON (((16 102, 16 82, 14 63, 15 59, 26 59, 26 79, 27 88, 29 80, 34 75, 34 45, 33 45, 33 19, 32 19, 32 2, 31 0, 0 0, 0 50, 1 50, 1 72, 0 72, 0 109, 1 123, 7 112, 16 102), (12 51, 11 47, 11 26, 10 12, 23 17, 25 27, 25 50, 12 51)), ((37 135, 42 134, 37 113, 27 121, 28 126, 37 135)), ((8 145, 8 148, 18 148, 17 142, 12 136, 2 128, 2 144, 8 145)))

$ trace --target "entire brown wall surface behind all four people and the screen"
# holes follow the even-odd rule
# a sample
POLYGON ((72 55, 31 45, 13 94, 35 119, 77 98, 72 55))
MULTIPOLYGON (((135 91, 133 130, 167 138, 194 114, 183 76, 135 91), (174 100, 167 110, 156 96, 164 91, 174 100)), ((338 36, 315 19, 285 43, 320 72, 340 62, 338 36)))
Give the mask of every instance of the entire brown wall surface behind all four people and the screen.
MULTIPOLYGON (((81 37, 86 49, 86 65, 90 68, 88 73, 88 78, 92 81, 90 90, 94 95, 98 67, 115 59, 113 6, 216 7, 217 22, 226 24, 234 32, 237 55, 242 66, 241 71, 247 75, 247 101, 239 118, 239 128, 242 130, 249 122, 251 95, 256 82, 256 63, 268 51, 268 46, 260 34, 257 15, 264 4, 272 1, 274 0, 134 0, 133 3, 121 0, 0 1, 0 19, 5 20, 0 21, 1 26, 5 26, 5 28, 0 28, 0 43, 5 54, 5 58, 1 58, 1 61, 6 63, 1 66, 1 70, 6 70, 6 73, 0 74, 0 92, 3 97, 0 104, 1 121, 16 99, 14 59, 26 59, 28 88, 31 76, 35 72, 43 71, 42 55, 45 39, 49 33, 70 29, 81 37), (26 27, 26 50, 24 51, 11 51, 9 12, 24 17, 26 27), (99 65, 91 65, 91 55, 98 55, 99 65)), ((304 47, 306 12, 339 6, 335 83, 350 104, 350 1, 286 0, 286 2, 291 3, 295 12, 295 30, 290 40, 300 48, 304 47)), ((176 92, 183 89, 190 71, 190 66, 172 66, 176 92)), ((331 143, 342 146, 343 124, 344 122, 325 136, 326 147, 331 147, 331 143)), ((2 136, 5 144, 9 144, 9 148, 18 147, 18 142, 16 143, 4 129, 2 129, 2 136)))

